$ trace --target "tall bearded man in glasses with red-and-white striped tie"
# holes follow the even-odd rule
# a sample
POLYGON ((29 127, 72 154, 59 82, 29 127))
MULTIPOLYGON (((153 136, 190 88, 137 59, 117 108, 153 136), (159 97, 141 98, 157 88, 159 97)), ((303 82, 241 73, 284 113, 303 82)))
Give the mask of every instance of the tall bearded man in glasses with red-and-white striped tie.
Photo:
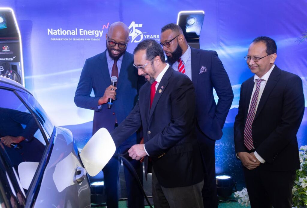
POLYGON ((222 128, 233 100, 231 84, 216 51, 190 47, 179 25, 165 25, 160 37, 167 62, 174 70, 186 74, 194 84, 196 134, 206 170, 202 190, 204 207, 217 208, 215 141, 222 137, 222 128), (219 97, 217 104, 213 88, 219 97))

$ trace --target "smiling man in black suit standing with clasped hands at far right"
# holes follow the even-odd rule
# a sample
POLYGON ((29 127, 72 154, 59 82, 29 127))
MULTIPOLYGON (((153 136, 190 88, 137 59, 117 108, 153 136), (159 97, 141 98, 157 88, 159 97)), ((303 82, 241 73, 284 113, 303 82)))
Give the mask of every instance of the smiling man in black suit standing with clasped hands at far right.
POLYGON ((235 152, 251 207, 292 207, 295 170, 300 168, 297 130, 305 101, 302 80, 275 64, 277 46, 261 36, 245 60, 255 75, 241 85, 235 117, 235 152))

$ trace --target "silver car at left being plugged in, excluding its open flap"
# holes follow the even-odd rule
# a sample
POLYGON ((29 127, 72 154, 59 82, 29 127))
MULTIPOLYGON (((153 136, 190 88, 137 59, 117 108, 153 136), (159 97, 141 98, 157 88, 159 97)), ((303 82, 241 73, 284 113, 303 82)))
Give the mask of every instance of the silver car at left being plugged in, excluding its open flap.
POLYGON ((0 137, 6 141, 11 137, 25 138, 17 142, 18 146, 0 145, 3 154, 8 155, 4 161, 11 164, 9 170, 15 173, 17 184, 22 187, 18 191, 10 179, 9 188, 15 195, 7 196, 10 202, 5 199, 4 202, 11 207, 89 207, 87 177, 79 183, 74 181, 76 175, 86 172, 69 131, 55 127, 51 130, 52 124, 44 116, 45 112, 38 103, 34 104, 33 96, 22 89, 0 83, 0 97, 0 137), (26 198, 25 204, 18 199, 20 193, 26 198))

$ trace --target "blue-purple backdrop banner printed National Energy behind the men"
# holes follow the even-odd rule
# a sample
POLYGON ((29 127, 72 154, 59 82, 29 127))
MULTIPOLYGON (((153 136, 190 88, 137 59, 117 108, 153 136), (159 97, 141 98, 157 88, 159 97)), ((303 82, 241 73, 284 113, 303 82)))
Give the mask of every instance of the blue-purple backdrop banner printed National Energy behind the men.
MULTIPOLYGON (((234 153, 233 122, 240 85, 253 75, 244 56, 255 37, 269 36, 276 41, 275 63, 301 77, 307 106, 307 41, 300 44, 297 41, 307 31, 306 0, 4 0, 0 6, 11 7, 17 17, 23 44, 25 86, 56 125, 69 125, 76 130, 73 125, 85 123, 84 130, 79 132, 80 140, 91 134, 88 122, 92 121, 93 112, 77 108, 74 94, 85 60, 106 49, 108 27, 115 21, 129 27, 127 51, 132 52, 144 39, 159 41, 161 27, 176 23, 178 13, 183 10, 205 12, 200 48, 218 52, 235 94, 223 138, 216 143, 218 173, 241 172, 234 153)), ((305 113, 297 135, 299 146, 307 143, 306 124, 305 113)))

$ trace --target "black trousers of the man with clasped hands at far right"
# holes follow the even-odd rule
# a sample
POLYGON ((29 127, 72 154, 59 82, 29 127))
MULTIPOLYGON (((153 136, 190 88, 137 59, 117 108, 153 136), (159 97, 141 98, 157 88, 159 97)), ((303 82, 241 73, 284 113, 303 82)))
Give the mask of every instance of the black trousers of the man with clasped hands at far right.
POLYGON ((252 208, 292 207, 295 171, 266 171, 260 164, 253 170, 243 167, 243 172, 252 208))

